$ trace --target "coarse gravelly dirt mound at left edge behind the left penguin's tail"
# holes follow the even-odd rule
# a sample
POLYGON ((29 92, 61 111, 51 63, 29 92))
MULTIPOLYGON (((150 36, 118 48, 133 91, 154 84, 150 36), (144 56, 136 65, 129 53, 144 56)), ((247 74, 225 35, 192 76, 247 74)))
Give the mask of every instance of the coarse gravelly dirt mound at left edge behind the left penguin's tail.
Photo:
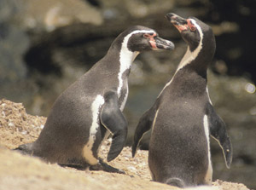
POLYGON ((37 139, 46 118, 26 113, 21 103, 0 100, 1 145, 9 148, 37 139))

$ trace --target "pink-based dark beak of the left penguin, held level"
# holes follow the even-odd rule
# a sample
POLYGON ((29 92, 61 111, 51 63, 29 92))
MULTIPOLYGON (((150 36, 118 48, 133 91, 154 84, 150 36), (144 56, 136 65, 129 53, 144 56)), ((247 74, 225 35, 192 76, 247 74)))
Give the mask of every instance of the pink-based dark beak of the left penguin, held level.
POLYGON ((171 41, 163 39, 158 36, 152 37, 149 40, 149 43, 153 50, 160 50, 160 49, 172 50, 175 48, 174 44, 171 41))

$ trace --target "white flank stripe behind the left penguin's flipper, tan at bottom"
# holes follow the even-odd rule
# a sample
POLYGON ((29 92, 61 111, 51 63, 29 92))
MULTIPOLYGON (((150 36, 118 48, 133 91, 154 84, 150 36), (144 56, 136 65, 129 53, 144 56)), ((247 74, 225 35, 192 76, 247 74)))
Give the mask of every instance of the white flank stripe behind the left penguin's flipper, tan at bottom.
POLYGON ((90 126, 90 136, 89 136, 88 142, 83 148, 84 158, 91 165, 95 165, 98 163, 98 159, 93 156, 91 148, 96 140, 96 132, 100 126, 98 118, 99 118, 100 108, 102 107, 104 102, 105 101, 102 95, 97 95, 96 99, 93 101, 91 105, 92 123, 90 126))

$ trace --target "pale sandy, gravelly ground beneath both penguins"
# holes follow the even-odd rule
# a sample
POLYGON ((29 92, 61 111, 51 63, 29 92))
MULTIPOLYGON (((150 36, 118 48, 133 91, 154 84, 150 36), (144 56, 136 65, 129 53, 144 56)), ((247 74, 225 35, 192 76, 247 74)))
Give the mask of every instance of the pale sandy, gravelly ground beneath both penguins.
MULTIPOLYGON (((31 142, 38 137, 46 118, 26 113, 21 103, 0 100, 0 190, 19 189, 178 189, 150 181, 148 152, 138 151, 131 158, 131 148, 125 147, 111 164, 125 170, 125 175, 104 171, 75 170, 58 164, 47 164, 38 158, 23 156, 9 149, 31 142)), ((110 141, 101 148, 101 157, 106 159, 110 141)), ((212 187, 196 189, 247 190, 243 184, 228 181, 213 181, 212 187)), ((194 189, 194 188, 193 188, 194 189)))

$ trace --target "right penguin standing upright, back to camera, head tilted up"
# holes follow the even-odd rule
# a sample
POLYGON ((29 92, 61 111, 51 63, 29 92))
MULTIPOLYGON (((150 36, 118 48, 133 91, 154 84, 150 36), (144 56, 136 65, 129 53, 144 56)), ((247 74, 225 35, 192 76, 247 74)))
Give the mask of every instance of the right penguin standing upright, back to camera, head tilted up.
POLYGON ((214 111, 207 89, 207 67, 216 44, 212 29, 195 17, 166 14, 188 45, 170 82, 140 118, 132 156, 143 134, 152 128, 148 166, 154 181, 177 187, 212 184, 211 135, 223 149, 230 168, 232 146, 222 118, 214 111))

